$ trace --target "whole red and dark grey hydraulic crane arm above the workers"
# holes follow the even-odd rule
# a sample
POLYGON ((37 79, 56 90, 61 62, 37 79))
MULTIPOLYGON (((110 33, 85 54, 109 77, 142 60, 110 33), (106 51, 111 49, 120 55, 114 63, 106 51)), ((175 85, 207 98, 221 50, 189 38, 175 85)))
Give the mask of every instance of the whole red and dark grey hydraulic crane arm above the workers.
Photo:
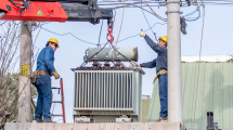
POLYGON ((39 22, 91 22, 112 20, 112 9, 101 9, 95 0, 1 0, 1 20, 39 22), (5 15, 4 15, 5 13, 5 15))

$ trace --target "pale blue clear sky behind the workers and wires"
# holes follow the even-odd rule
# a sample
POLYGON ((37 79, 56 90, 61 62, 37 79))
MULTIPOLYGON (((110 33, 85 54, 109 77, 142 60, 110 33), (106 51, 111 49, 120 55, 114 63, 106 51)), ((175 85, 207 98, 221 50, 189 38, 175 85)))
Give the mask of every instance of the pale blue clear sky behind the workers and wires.
MULTIPOLYGON (((145 8, 148 10, 148 8, 145 8)), ((196 6, 181 8, 183 14, 185 15, 190 12, 193 12, 196 6)), ((167 17, 165 12, 166 6, 153 8, 153 10, 163 17, 167 17)), ((203 8, 200 8, 200 13, 203 14, 203 8)), ((205 8, 205 25, 203 34, 203 44, 202 44, 202 55, 233 55, 232 49, 233 43, 231 43, 231 38, 233 38, 233 25, 232 25, 232 15, 230 12, 233 12, 232 6, 220 6, 220 5, 207 5, 205 8)), ((120 28, 122 16, 122 9, 116 10, 115 26, 113 35, 115 41, 120 28)), ((155 23, 160 23, 155 25, 152 29, 156 32, 157 37, 167 35, 167 24, 158 20, 154 15, 146 13, 145 16, 148 20, 151 26, 155 23), (163 25, 164 24, 164 25, 163 25)), ((191 17, 196 17, 197 13, 191 17)), ((200 49, 200 36, 202 36, 202 26, 203 17, 195 22, 186 22, 186 35, 181 34, 181 55, 198 55, 200 49)), ((67 34, 70 32, 79 39, 82 39, 88 42, 98 43, 99 35, 101 29, 101 24, 92 25, 88 22, 66 22, 66 23, 49 23, 42 26, 43 28, 51 30, 56 34, 67 34)), ((146 30, 148 25, 143 16, 142 10, 137 8, 126 8, 124 13, 124 21, 119 40, 125 39, 130 36, 139 35, 141 29, 146 30)), ((39 29, 33 32, 34 39, 38 34, 39 29)), ((107 21, 103 22, 101 43, 106 42, 107 34, 107 21)), ((151 30, 146 31, 146 35, 155 40, 154 35, 151 30)), ((86 49, 96 48, 94 44, 88 44, 73 37, 72 35, 59 36, 52 32, 49 32, 44 29, 41 29, 36 41, 36 46, 41 50, 44 48, 46 42, 50 38, 56 38, 60 43, 60 48, 55 52, 54 66, 61 78, 64 82, 64 96, 65 96, 65 112, 67 122, 74 122, 73 119, 73 101, 74 101, 74 72, 70 68, 75 68, 81 65, 83 62, 86 49)), ((169 46, 169 43, 168 43, 169 46)), ((117 43, 117 48, 124 47, 138 47, 139 51, 139 62, 145 63, 153 61, 157 57, 157 54, 147 46, 144 38, 135 36, 127 40, 120 41, 117 43)), ((108 46, 107 46, 108 48, 108 46)), ((91 66, 92 63, 87 66, 91 66)), ((126 63, 126 65, 128 65, 126 63)), ((20 65, 18 65, 20 66, 20 65)), ((36 67, 34 67, 34 70, 36 67)), ((155 68, 143 68, 145 75, 142 77, 142 94, 152 95, 153 91, 153 79, 156 76, 155 68)), ((55 80, 52 77, 52 87, 60 87, 60 80, 55 80)), ((53 91, 53 101, 60 101, 61 95, 57 94, 57 90, 53 91)), ((62 114, 62 106, 56 104, 53 110, 54 114, 62 114)), ((57 121, 62 118, 54 118, 54 121, 57 121)), ((61 120, 60 120, 61 121, 61 120)))

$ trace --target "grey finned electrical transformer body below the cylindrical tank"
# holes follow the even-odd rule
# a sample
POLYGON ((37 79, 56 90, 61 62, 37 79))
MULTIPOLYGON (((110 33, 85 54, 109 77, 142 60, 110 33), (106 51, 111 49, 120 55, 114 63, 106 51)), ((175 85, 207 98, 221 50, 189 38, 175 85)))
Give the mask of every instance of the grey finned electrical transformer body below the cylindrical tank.
POLYGON ((92 58, 92 67, 77 67, 74 87, 75 122, 140 122, 142 113, 142 75, 138 67, 125 67, 119 56, 111 66, 92 58))

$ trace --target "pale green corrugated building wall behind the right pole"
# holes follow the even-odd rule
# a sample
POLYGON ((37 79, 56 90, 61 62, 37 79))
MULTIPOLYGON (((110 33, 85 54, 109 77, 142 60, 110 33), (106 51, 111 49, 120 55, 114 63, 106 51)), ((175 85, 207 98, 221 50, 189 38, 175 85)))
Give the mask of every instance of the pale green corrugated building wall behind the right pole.
MULTIPOLYGON (((219 123, 219 129, 232 130, 233 63, 200 63, 198 86, 197 72, 198 63, 182 63, 183 123, 187 130, 193 130, 195 110, 195 130, 205 130, 207 112, 213 112, 213 122, 219 123)), ((156 81, 147 114, 147 122, 158 119, 159 108, 158 82, 156 81)))

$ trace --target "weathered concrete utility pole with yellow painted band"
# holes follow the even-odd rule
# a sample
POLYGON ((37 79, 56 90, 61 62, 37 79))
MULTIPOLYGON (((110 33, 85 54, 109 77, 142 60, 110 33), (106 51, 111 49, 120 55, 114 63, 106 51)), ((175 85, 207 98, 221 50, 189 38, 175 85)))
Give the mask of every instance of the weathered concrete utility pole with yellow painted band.
POLYGON ((30 122, 30 74, 31 74, 31 22, 21 23, 21 66, 20 66, 20 83, 18 94, 22 92, 18 99, 18 121, 30 122))

